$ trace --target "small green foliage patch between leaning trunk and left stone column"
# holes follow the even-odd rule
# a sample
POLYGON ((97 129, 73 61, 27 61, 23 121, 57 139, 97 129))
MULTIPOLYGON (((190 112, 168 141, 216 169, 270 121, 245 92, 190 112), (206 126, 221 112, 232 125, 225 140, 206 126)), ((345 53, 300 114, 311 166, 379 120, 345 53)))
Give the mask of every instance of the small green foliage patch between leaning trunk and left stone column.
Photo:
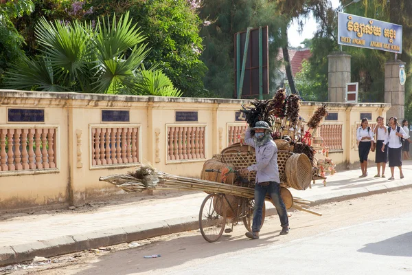
POLYGON ((328 101, 328 78, 304 60, 301 71, 295 76, 295 85, 305 101, 328 101))

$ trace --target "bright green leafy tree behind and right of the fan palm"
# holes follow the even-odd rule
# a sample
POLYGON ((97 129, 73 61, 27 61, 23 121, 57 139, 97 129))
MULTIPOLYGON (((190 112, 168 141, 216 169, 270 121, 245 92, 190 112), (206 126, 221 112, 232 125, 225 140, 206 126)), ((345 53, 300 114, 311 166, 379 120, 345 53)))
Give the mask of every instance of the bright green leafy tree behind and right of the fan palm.
POLYGON ((157 64, 185 96, 204 94, 203 76, 207 67, 199 58, 203 46, 198 34, 202 21, 187 0, 95 0, 91 5, 94 12, 89 19, 128 10, 152 49, 145 64, 157 64))

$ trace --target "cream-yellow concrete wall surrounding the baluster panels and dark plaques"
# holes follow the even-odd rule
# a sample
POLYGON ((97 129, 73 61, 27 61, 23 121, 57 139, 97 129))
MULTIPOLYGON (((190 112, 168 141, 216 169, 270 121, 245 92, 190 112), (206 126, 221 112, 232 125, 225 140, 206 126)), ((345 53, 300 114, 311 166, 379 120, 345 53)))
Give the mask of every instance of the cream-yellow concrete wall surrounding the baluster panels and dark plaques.
MULTIPOLYGON (((126 173, 141 163, 150 162, 155 168, 175 175, 198 177, 205 159, 210 159, 229 144, 229 127, 245 125, 245 122, 236 121, 235 113, 241 104, 248 102, 0 90, 0 129, 57 129, 56 168, 0 170, 0 210, 56 203, 78 204, 119 194, 123 191, 98 181, 99 177, 126 173), (9 108, 44 109, 45 122, 8 122, 9 108), (130 122, 102 122, 101 112, 104 109, 128 110, 130 122), (198 122, 176 122, 175 111, 198 111, 198 122), (139 163, 93 166, 92 147, 95 140, 91 129, 126 129, 132 126, 139 129, 139 163), (175 126, 176 129, 204 126, 204 157, 168 160, 168 126, 175 126)), ((330 151, 330 157, 339 167, 350 168, 358 161, 354 135, 356 124, 361 120, 360 113, 371 113, 375 121, 378 115, 385 115, 390 105, 303 102, 301 116, 307 121, 321 104, 328 104, 330 112, 338 113, 338 120, 326 121, 325 124, 339 124, 341 127, 339 131, 331 127, 331 132, 328 132, 330 142, 334 140, 335 145, 341 144, 341 148, 335 146, 339 149, 330 151)))

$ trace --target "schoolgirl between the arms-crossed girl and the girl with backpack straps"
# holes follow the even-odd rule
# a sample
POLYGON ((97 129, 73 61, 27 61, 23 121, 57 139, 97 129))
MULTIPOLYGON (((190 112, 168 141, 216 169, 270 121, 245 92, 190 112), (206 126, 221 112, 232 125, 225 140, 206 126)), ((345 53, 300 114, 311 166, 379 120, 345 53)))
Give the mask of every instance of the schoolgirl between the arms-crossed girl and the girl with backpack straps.
POLYGON ((375 163, 376 167, 378 168, 378 174, 375 177, 380 177, 380 167, 382 166, 382 177, 385 177, 385 168, 386 163, 388 161, 388 147, 383 147, 384 150, 382 151, 382 145, 387 143, 388 140, 388 127, 385 126, 383 122, 383 118, 378 116, 376 118, 376 127, 374 129, 374 134, 376 134, 376 155, 375 155, 375 163))

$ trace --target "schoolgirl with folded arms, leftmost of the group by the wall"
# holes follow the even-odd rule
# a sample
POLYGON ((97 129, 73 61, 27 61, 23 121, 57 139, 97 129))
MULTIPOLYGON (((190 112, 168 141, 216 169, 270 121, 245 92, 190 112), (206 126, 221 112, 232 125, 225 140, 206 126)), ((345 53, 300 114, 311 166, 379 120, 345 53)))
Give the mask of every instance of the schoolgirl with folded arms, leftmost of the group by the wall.
POLYGON ((371 127, 367 126, 369 122, 367 118, 362 119, 361 126, 356 130, 356 139, 358 140, 358 153, 359 161, 361 162, 362 175, 359 177, 367 176, 367 156, 371 150, 371 146, 374 146, 374 133, 371 127))

